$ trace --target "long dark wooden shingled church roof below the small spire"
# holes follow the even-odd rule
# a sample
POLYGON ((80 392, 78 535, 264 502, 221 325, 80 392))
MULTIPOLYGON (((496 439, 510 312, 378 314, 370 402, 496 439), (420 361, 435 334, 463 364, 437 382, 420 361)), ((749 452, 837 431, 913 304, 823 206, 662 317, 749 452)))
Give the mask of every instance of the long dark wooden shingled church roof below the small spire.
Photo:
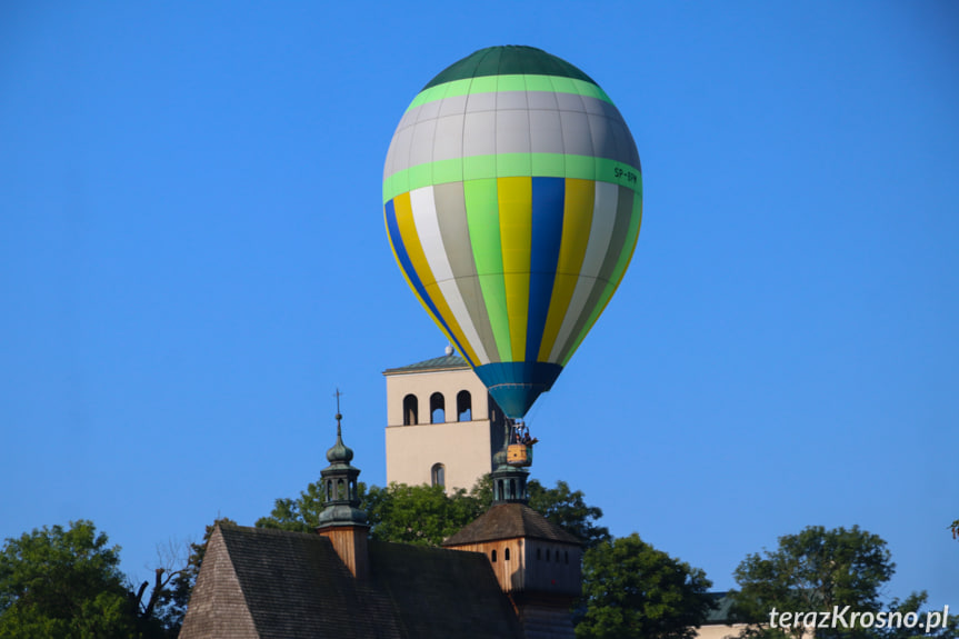
POLYGON ((319 535, 218 527, 180 639, 522 637, 482 555, 376 541, 369 552, 361 582, 319 535))

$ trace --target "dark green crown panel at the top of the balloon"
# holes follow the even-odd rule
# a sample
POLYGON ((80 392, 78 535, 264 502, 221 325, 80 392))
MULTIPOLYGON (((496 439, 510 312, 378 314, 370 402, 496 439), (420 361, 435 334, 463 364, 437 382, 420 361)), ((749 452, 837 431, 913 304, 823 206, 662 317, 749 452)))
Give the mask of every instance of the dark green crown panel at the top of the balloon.
POLYGON ((587 82, 596 81, 560 58, 533 47, 507 46, 480 49, 453 62, 430 80, 423 90, 437 84, 485 76, 557 76, 587 82))

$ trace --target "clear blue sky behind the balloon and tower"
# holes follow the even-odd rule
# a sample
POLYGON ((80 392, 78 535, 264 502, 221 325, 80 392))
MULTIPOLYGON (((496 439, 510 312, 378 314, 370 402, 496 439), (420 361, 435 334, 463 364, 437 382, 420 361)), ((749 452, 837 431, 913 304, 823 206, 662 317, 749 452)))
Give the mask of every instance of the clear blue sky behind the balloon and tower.
POLYGON ((533 408, 533 475, 706 569, 859 525, 959 609, 959 4, 7 2, 0 538, 89 518, 149 575, 326 466, 342 389, 442 353, 387 241, 396 124, 530 44, 642 158, 637 253, 533 408), (463 7, 463 8, 460 8, 463 7))

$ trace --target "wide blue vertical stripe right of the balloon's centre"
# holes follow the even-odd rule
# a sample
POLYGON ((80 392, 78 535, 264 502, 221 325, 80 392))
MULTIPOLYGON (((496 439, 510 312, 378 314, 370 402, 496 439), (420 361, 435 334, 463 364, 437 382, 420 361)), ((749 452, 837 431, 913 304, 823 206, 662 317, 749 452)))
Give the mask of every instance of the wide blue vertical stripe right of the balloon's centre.
POLYGON ((526 360, 536 361, 546 330, 549 302, 556 282, 562 244, 566 203, 565 178, 532 178, 532 246, 530 251, 529 314, 526 329, 526 360))

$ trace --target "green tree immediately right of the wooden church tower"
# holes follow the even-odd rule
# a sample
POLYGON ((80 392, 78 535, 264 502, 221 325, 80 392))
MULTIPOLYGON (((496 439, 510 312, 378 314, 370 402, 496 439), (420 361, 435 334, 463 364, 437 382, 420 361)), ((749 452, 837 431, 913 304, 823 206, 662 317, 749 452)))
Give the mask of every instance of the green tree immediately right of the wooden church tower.
POLYGON ((603 541, 582 561, 578 639, 691 639, 712 607, 706 572, 642 541, 603 541))

